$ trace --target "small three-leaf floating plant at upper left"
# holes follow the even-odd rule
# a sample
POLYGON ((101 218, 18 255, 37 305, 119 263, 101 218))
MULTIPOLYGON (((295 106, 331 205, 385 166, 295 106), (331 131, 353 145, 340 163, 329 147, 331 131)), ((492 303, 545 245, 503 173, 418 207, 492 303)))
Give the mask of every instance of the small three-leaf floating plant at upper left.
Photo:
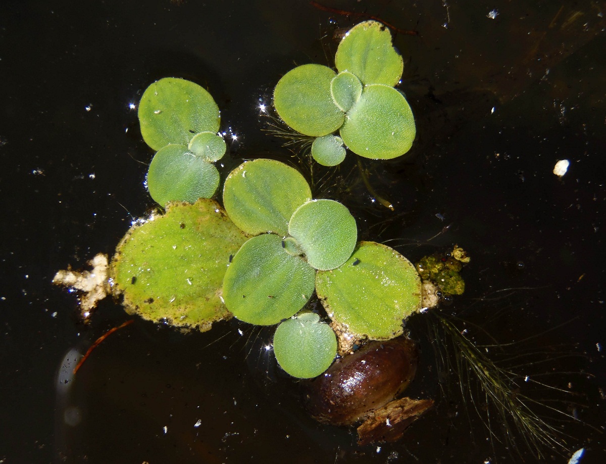
POLYGON ((157 150, 147 173, 151 198, 165 206, 215 195, 219 171, 212 163, 227 149, 220 122, 215 100, 194 82, 164 78, 147 87, 139 123, 143 140, 157 150))

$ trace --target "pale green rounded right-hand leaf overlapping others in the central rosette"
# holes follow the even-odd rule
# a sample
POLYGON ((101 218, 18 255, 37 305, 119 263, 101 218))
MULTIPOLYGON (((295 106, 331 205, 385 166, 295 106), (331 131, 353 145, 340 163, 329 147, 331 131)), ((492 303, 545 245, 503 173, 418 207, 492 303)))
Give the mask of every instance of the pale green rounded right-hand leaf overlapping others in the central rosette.
POLYGON ((333 200, 302 204, 288 224, 288 234, 304 250, 310 266, 323 271, 345 263, 358 239, 356 220, 345 206, 333 200))

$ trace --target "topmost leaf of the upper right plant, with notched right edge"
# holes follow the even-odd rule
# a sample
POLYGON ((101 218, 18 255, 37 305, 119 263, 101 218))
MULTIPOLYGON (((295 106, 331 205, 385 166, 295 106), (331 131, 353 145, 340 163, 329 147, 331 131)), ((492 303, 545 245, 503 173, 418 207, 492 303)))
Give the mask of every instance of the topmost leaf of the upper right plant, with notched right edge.
POLYGON ((402 77, 404 61, 391 45, 391 33, 380 22, 365 21, 345 34, 335 56, 339 72, 355 74, 367 86, 393 87, 402 77))

